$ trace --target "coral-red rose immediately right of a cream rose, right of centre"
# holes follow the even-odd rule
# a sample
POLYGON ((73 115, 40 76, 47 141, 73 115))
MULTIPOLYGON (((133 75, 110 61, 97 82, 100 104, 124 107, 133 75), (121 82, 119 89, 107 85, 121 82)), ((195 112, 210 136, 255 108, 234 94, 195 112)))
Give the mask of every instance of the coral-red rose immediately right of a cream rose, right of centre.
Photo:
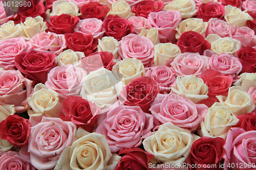
POLYGON ((231 75, 223 75, 215 69, 206 69, 201 74, 201 79, 208 86, 208 96, 215 98, 216 95, 227 95, 228 88, 231 87, 233 78, 231 75))

